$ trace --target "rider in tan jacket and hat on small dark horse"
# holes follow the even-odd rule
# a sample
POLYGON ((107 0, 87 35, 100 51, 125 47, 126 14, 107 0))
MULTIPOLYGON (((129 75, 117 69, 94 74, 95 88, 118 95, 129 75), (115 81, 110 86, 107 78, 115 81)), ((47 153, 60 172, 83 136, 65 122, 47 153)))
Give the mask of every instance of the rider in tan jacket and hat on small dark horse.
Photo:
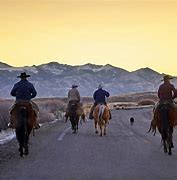
POLYGON ((68 91, 68 105, 67 105, 66 114, 65 114, 66 121, 67 121, 67 119, 69 117, 71 104, 76 104, 77 105, 77 107, 80 110, 82 119, 85 119, 85 114, 84 114, 84 111, 83 111, 83 107, 82 107, 82 104, 80 103, 80 93, 79 93, 77 87, 78 87, 78 85, 73 84, 71 89, 68 91))

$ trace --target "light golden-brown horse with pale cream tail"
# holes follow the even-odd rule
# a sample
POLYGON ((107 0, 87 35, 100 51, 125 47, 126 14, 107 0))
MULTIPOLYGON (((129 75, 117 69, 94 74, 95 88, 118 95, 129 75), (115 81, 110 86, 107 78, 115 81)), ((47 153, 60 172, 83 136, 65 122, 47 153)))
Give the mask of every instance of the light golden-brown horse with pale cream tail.
POLYGON ((95 133, 98 133, 97 124, 100 127, 100 136, 106 135, 106 125, 110 119, 108 106, 98 104, 93 110, 93 119, 95 124, 95 133))

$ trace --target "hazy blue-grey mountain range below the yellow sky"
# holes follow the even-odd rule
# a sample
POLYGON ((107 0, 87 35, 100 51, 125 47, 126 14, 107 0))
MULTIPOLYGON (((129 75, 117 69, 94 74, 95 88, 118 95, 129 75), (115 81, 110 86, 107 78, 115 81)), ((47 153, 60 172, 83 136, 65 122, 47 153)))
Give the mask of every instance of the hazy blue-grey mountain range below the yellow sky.
MULTIPOLYGON (((98 84, 102 84, 111 95, 157 91, 162 74, 142 68, 129 72, 110 64, 85 64, 71 66, 49 62, 39 66, 12 67, 0 63, 0 98, 11 98, 10 90, 21 72, 31 75, 38 97, 64 97, 72 84, 79 85, 81 96, 92 96, 98 84)), ((173 79, 177 85, 177 78, 173 79)))

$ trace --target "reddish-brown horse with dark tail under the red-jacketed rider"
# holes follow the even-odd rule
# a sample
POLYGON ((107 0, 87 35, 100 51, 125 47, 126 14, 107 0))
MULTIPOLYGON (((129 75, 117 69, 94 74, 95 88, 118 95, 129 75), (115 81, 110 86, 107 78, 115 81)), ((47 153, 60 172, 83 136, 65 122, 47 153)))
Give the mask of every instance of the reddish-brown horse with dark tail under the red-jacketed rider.
POLYGON ((151 121, 148 132, 156 133, 156 127, 161 134, 164 152, 168 155, 172 154, 173 148, 173 127, 177 122, 177 110, 170 104, 164 103, 153 110, 154 117, 151 121))

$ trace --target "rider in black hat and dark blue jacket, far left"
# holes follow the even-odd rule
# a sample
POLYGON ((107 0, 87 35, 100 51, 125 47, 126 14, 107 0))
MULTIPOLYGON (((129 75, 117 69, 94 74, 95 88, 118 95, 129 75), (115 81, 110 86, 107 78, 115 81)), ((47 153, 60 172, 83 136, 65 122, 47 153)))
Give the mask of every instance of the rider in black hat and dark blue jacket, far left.
MULTIPOLYGON (((26 72, 21 73, 17 77, 21 78, 21 80, 13 86, 10 94, 16 97, 15 104, 18 103, 19 101, 29 101, 32 103, 32 107, 36 115, 36 122, 35 122, 34 128, 38 129, 40 128, 40 125, 37 122, 39 108, 33 101, 31 101, 31 99, 36 97, 37 95, 36 89, 34 88, 33 84, 27 80, 27 77, 30 77, 30 75, 26 74, 26 72)), ((15 104, 9 109, 10 112, 12 112, 12 110, 14 109, 15 104)), ((9 127, 14 128, 12 121, 13 119, 10 118, 9 127)))

